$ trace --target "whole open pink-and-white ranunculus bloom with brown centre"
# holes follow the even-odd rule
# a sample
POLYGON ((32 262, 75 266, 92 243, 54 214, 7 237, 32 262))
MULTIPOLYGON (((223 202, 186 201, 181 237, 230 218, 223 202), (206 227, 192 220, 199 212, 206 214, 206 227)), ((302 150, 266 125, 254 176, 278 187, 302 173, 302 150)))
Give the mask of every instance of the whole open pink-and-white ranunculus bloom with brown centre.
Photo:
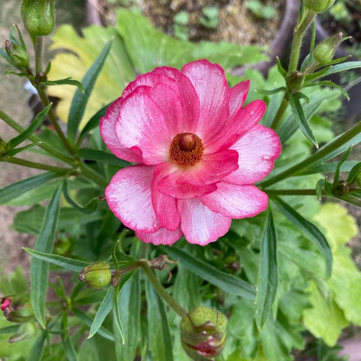
POLYGON ((161 67, 131 82, 101 118, 110 151, 139 163, 114 175, 106 200, 143 242, 173 244, 184 234, 205 245, 232 218, 266 209, 268 197, 253 183, 272 170, 281 146, 257 124, 264 101, 242 108, 248 89, 249 81, 230 89, 208 60, 161 67))

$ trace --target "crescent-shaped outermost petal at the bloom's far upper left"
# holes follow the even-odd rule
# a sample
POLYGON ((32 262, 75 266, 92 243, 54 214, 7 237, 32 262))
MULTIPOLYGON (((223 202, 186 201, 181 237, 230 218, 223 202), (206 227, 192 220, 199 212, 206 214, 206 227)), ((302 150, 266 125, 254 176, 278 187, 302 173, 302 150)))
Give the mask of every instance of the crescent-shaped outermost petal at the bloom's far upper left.
POLYGON ((143 163, 142 157, 136 155, 130 149, 122 147, 117 135, 115 134, 114 126, 119 115, 120 106, 121 98, 118 98, 106 110, 105 116, 100 118, 100 135, 109 150, 118 158, 129 162, 143 163))

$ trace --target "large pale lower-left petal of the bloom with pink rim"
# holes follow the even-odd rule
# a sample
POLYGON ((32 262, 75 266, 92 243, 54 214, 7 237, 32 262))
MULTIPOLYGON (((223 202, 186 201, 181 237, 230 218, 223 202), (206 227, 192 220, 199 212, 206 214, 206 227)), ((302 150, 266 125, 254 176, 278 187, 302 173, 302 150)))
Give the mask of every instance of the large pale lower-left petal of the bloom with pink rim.
POLYGON ((105 189, 109 208, 126 227, 152 233, 162 227, 151 199, 155 167, 133 165, 119 170, 105 189))

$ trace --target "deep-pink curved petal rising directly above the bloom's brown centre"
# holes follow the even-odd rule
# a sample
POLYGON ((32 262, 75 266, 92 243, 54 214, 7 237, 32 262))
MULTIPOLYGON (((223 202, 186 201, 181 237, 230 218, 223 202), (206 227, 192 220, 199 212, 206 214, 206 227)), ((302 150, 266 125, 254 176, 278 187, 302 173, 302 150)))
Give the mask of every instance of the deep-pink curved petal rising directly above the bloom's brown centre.
POLYGON ((162 66, 153 73, 173 79, 178 86, 183 108, 183 129, 181 132, 195 133, 199 119, 199 99, 191 81, 178 69, 162 66))

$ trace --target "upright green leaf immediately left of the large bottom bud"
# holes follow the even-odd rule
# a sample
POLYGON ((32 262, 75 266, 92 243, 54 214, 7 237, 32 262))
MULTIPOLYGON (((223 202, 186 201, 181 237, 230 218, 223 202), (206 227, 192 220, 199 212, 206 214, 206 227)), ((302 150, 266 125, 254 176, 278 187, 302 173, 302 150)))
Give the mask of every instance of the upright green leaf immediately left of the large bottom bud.
POLYGON ((164 303, 148 279, 145 281, 145 298, 147 299, 148 340, 152 360, 173 361, 168 315, 164 303))

